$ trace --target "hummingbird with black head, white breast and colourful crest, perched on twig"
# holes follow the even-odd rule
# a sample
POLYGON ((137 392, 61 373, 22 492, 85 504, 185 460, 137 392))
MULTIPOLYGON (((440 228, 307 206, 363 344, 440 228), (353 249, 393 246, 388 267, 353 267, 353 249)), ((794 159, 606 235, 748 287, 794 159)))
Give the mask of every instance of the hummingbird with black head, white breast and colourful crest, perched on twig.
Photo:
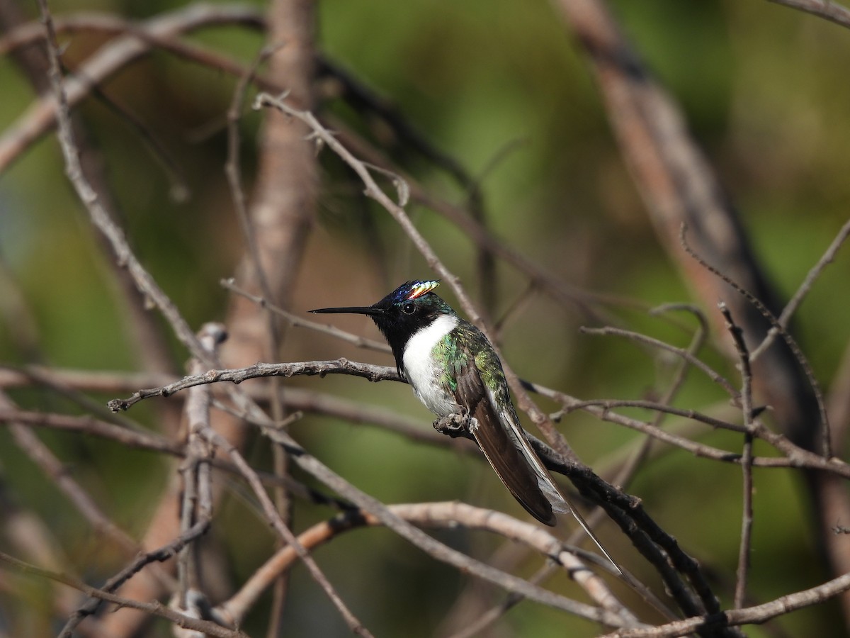
POLYGON ((405 282, 372 305, 309 311, 370 316, 393 350, 399 376, 438 416, 434 426, 465 428, 531 516, 554 526, 556 513, 572 513, 617 567, 530 446, 496 350, 479 328, 433 292, 438 285, 439 281, 405 282))

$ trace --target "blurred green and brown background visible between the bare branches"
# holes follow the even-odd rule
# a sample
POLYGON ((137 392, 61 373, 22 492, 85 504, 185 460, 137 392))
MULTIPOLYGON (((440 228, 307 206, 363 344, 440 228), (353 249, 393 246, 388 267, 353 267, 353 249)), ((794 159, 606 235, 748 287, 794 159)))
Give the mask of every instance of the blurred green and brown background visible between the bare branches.
MULTIPOLYGON (((145 20, 182 6, 132 0, 51 3, 57 16, 97 11, 127 20, 145 20)), ((789 296, 847 219, 850 31, 762 0, 612 0, 609 7, 683 108, 691 132, 740 210, 757 258, 779 291, 789 296)), ((257 9, 262 14, 263 4, 257 9)), ((33 6, 20 11, 37 20, 33 6)), ((485 223, 496 237, 565 285, 604 298, 587 301, 584 293, 576 293, 576 303, 564 305, 538 291, 529 293, 528 277, 502 260, 483 287, 477 250, 468 236, 431 208, 419 203, 408 207, 411 219, 473 299, 482 301, 490 294, 484 305, 499 322, 501 347, 513 370, 582 399, 659 396, 672 382, 675 359, 624 339, 579 332, 582 325, 603 325, 609 317, 624 328, 684 347, 695 327, 693 318, 677 316, 673 325, 647 310, 693 303, 694 297, 660 247, 596 83, 553 4, 324 0, 316 4, 316 12, 320 54, 386 100, 433 148, 463 168, 478 187, 485 223), (482 292, 484 288, 491 292, 482 292)), ((109 37, 91 30, 63 34, 65 64, 73 70, 109 37)), ((186 39, 245 65, 265 43, 263 32, 250 26, 211 26, 186 39)), ((150 143, 105 100, 89 97, 77 111, 103 163, 133 249, 193 329, 225 320, 230 293, 219 282, 234 275, 246 250, 224 175, 225 116, 237 80, 155 49, 104 83, 103 93, 144 123, 163 153, 152 152, 150 143)), ((0 87, 0 128, 8 133, 37 94, 8 55, 0 58, 0 87)), ((473 193, 466 186, 382 122, 337 99, 335 90, 332 78, 317 83, 320 113, 331 128, 336 122, 357 131, 381 146, 431 197, 467 207, 473 193)), ((240 122, 241 168, 249 196, 265 117, 248 106, 254 93, 249 89, 240 122)), ((362 196, 354 174, 330 151, 321 151, 319 160, 315 224, 288 310, 304 316, 316 307, 368 305, 407 279, 432 277, 393 219, 362 196)), ((43 136, 0 174, 0 363, 138 370, 139 352, 118 299, 111 259, 68 185, 54 135, 43 136)), ((797 317, 797 339, 825 388, 847 345, 847 268, 847 255, 840 253, 797 317)), ((456 305, 450 288, 439 293, 456 305)), ((332 323, 379 338, 365 317, 333 317, 332 323)), ((161 372, 182 373, 189 355, 164 323, 161 330, 173 356, 172 367, 161 372)), ((717 350, 715 339, 700 357, 737 383, 734 365, 717 350)), ((389 356, 304 328, 288 328, 280 348, 280 361, 339 356, 391 364, 389 356)), ((430 429, 432 416, 405 385, 344 376, 287 379, 290 384, 404 413, 421 421, 423 430, 430 429)), ((21 407, 82 412, 55 390, 30 386, 8 392, 21 407)), ((99 405, 115 398, 88 395, 99 405)), ((692 371, 674 405, 708 411, 726 401, 717 385, 692 371)), ((547 412, 558 410, 553 402, 538 402, 547 412)), ((134 407, 127 418, 159 429, 156 411, 146 404, 134 407)), ((558 427, 602 476, 622 463, 638 439, 632 431, 581 413, 571 413, 558 427)), ((113 520, 137 538, 144 533, 173 475, 170 460, 92 437, 50 430, 37 434, 113 520)), ((293 424, 292 435, 385 502, 461 499, 525 516, 490 468, 469 455, 318 415, 293 424)), ((740 449, 740 436, 728 432, 702 431, 700 441, 740 449)), ((740 468, 656 447, 658 456, 638 472, 627 491, 641 498, 650 515, 717 578, 717 591, 728 604, 740 533, 740 468)), ((757 453, 770 451, 757 446, 757 453)), ((252 440, 246 455, 257 467, 271 462, 265 440, 252 440)), ((8 506, 30 510, 46 523, 67 571, 99 583, 123 565, 122 555, 92 533, 54 483, 14 447, 5 428, 0 428, 0 470, 8 506)), ((297 471, 296 477, 310 482, 297 471)), ((790 470, 756 470, 755 481, 752 604, 827 578, 799 476, 790 470)), ((222 585, 224 595, 275 544, 256 504, 245 498, 246 490, 232 487, 218 506, 210 541, 224 559, 229 579, 222 585)), ((303 529, 331 515, 331 510, 297 504, 294 524, 303 529)), ((609 522, 599 533, 618 560, 650 578, 609 522)), ((436 535, 485 560, 502 544, 478 533, 436 535)), ((315 556, 376 635, 447 635, 457 629, 451 626, 452 610, 467 592, 467 579, 393 533, 349 533, 315 556)), ((522 575, 539 565, 539 559, 516 560, 514 568, 522 575)), ((7 581, 0 591, 0 617, 6 618, 8 635, 24 635, 16 632, 25 626, 27 635, 54 633, 62 619, 56 624, 47 591, 32 581, 21 583, 26 589, 14 590, 7 581)), ((575 594, 563 575, 547 586, 575 594)), ((498 592, 490 592, 490 601, 499 600, 498 592)), ((263 635, 268 614, 266 601, 243 629, 263 635)), ((767 628, 748 627, 747 632, 846 635, 841 626, 837 606, 827 603, 767 628)), ((292 636, 346 634, 343 621, 300 565, 292 572, 284 628, 284 635, 292 636)), ((599 630, 524 603, 484 635, 578 636, 599 630)), ((144 632, 167 635, 167 625, 154 624, 144 632)))

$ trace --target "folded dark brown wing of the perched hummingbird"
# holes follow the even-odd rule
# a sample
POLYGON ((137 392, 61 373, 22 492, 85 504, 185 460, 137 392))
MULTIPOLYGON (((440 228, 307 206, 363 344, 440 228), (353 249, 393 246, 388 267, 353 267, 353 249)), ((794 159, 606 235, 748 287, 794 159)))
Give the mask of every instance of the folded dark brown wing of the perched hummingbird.
POLYGON ((524 454, 522 443, 525 441, 517 439, 511 425, 502 423, 472 357, 457 371, 456 380, 456 401, 469 408, 469 416, 475 419, 469 429, 501 482, 531 516, 554 525, 552 504, 541 491, 537 473, 524 454))

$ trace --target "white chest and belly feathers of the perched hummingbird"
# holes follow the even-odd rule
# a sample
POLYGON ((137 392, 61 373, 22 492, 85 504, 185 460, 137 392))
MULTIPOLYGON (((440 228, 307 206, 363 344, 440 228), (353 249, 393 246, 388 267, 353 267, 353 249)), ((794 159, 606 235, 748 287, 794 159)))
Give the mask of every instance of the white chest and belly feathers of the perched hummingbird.
POLYGON ((455 412, 456 404, 439 383, 442 371, 434 365, 432 351, 456 327, 457 321, 456 316, 439 316, 428 328, 422 328, 407 340, 402 356, 405 376, 419 401, 441 417, 455 412))

